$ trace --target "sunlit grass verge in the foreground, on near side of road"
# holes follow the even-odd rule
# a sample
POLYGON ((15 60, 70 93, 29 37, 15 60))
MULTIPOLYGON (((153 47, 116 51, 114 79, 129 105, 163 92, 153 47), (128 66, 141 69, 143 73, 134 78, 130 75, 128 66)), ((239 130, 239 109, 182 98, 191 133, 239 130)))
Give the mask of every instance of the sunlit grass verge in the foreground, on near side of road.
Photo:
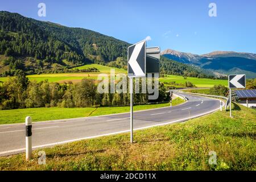
POLYGON ((233 105, 228 111, 184 123, 152 127, 129 134, 67 143, 0 158, 0 170, 256 170, 256 111, 233 105), (38 164, 38 152, 46 164, 38 164), (209 164, 209 152, 217 164, 209 164))

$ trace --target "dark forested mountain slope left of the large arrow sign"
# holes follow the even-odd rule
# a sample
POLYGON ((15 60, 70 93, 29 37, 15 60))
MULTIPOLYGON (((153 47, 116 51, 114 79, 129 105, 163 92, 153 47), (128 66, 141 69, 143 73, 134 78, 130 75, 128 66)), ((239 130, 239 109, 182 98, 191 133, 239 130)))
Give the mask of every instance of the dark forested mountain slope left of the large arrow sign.
POLYGON ((69 28, 0 11, 0 55, 5 55, 0 60, 0 72, 14 69, 38 72, 108 63, 126 57, 129 45, 84 28, 69 28))

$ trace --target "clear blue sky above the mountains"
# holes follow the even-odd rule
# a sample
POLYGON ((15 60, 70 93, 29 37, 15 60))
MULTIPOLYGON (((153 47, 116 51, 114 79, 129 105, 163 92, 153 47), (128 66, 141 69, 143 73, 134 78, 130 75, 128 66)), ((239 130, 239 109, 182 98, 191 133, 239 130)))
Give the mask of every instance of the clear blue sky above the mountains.
POLYGON ((256 1, 3 1, 0 10, 81 27, 136 43, 150 36, 147 46, 197 54, 212 51, 256 53, 256 1), (38 4, 46 4, 46 17, 38 4), (209 3, 217 16, 210 17, 209 3))

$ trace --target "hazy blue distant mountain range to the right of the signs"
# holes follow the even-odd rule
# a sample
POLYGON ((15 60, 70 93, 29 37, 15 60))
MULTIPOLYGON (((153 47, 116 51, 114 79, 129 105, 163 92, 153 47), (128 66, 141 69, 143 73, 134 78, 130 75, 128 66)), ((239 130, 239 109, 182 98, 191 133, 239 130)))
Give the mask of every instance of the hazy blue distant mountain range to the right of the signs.
POLYGON ((162 56, 180 63, 192 64, 222 74, 246 73, 248 78, 256 77, 256 54, 233 51, 216 51, 195 55, 167 49, 162 56))

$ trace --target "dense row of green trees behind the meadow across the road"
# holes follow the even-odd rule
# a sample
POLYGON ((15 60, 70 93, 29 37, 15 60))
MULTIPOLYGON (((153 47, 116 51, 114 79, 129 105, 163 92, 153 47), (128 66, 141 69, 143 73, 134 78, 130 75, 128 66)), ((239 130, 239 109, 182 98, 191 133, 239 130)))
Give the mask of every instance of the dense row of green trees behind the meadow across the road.
MULTIPOLYGON (((109 86, 110 88, 110 86, 109 86)), ((110 90, 109 90, 110 91, 110 90)), ((151 102, 169 101, 170 96, 163 84, 159 85, 158 100, 151 102)), ((147 94, 134 94, 135 104, 146 104, 147 94)), ((68 82, 28 81, 24 72, 15 72, 15 77, 0 84, 0 109, 17 109, 26 107, 92 107, 92 106, 121 106, 130 103, 129 93, 97 92, 93 80, 83 79, 77 84, 68 82)))

